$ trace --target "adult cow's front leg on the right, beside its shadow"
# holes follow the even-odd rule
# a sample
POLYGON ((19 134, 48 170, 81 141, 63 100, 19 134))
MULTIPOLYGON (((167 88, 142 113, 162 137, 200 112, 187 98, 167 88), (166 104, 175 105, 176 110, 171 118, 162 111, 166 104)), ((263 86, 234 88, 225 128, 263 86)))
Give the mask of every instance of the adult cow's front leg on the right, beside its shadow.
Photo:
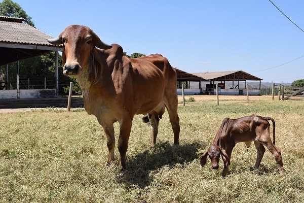
POLYGON ((120 134, 119 134, 119 139, 118 139, 118 151, 120 153, 120 166, 122 170, 127 168, 126 165, 126 153, 128 149, 128 144, 129 144, 129 137, 131 133, 131 126, 132 126, 132 120, 133 117, 129 117, 127 119, 123 119, 120 122, 120 134))

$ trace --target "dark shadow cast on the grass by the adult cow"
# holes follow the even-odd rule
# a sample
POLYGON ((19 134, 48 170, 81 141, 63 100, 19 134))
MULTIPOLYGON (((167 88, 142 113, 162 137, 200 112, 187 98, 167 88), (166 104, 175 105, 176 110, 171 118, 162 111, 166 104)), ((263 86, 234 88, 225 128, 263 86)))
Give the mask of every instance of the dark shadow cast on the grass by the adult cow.
POLYGON ((127 161, 128 168, 124 175, 118 178, 118 182, 124 183, 127 188, 134 185, 144 188, 155 178, 156 173, 163 166, 170 168, 185 167, 189 162, 199 157, 198 149, 204 145, 195 142, 184 145, 171 145, 169 142, 157 144, 156 149, 145 150, 127 161))

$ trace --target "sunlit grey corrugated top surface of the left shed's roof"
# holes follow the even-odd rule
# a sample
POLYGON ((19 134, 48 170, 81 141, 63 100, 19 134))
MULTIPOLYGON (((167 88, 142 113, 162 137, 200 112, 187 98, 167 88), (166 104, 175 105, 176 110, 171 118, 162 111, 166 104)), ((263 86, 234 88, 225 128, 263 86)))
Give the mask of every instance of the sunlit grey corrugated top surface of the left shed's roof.
POLYGON ((46 33, 20 22, 0 21, 0 43, 28 44, 28 45, 52 45, 47 40, 53 37, 46 33))

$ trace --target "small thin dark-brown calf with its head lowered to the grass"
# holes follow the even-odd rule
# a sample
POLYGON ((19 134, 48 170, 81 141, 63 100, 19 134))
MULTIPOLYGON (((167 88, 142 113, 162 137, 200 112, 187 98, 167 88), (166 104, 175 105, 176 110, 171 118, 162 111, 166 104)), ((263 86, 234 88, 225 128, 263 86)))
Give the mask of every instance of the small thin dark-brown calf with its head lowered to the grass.
POLYGON ((279 172, 284 173, 281 150, 275 146, 276 123, 273 118, 261 117, 257 115, 245 116, 237 119, 225 118, 219 127, 213 144, 203 154, 201 165, 204 167, 209 156, 212 168, 218 168, 219 157, 224 161, 224 170, 230 165, 230 158, 236 143, 245 142, 247 148, 254 142, 256 148, 256 162, 254 168, 257 169, 265 152, 264 146, 274 155, 278 163, 279 172), (270 124, 273 122, 273 142, 270 138, 270 124), (264 146, 263 146, 264 145, 264 146))

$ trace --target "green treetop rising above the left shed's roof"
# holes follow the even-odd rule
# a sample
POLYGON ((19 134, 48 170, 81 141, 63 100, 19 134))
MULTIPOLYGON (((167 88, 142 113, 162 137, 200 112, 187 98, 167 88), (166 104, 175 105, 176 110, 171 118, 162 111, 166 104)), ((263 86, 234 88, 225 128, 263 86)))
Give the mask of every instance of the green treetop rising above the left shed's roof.
POLYGON ((25 13, 19 4, 14 3, 12 0, 3 0, 2 3, 0 3, 0 15, 24 18, 26 24, 35 27, 35 24, 31 21, 31 17, 25 13))

